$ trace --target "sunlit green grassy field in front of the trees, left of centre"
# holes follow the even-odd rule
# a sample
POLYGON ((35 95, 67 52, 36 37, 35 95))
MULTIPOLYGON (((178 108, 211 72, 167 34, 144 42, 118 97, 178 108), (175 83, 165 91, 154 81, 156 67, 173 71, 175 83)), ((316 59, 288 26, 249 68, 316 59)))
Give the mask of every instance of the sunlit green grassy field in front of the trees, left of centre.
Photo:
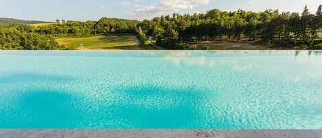
POLYGON ((123 50, 139 50, 139 42, 136 36, 93 36, 88 38, 58 38, 56 39, 59 45, 65 45, 69 49, 80 49, 80 44, 83 44, 85 50, 108 50, 108 49, 123 49, 123 50))

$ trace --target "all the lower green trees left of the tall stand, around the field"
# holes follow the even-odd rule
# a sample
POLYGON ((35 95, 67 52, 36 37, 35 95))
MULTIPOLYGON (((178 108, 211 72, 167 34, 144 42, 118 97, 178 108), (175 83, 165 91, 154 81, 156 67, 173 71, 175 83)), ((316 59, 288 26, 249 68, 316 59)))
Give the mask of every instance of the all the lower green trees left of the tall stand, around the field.
POLYGON ((139 21, 102 18, 100 21, 65 21, 47 25, 0 25, 0 49, 64 50, 56 38, 80 38, 102 34, 136 34, 139 21))

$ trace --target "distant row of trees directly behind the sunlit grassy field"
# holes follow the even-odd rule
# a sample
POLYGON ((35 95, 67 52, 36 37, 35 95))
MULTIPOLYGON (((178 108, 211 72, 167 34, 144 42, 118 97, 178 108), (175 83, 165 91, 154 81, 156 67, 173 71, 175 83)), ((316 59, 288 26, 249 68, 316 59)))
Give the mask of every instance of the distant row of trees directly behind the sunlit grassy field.
POLYGON ((55 24, 36 28, 39 34, 50 34, 57 37, 87 37, 97 34, 128 33, 135 34, 139 21, 126 19, 110 19, 103 17, 99 21, 66 21, 56 20, 55 24))

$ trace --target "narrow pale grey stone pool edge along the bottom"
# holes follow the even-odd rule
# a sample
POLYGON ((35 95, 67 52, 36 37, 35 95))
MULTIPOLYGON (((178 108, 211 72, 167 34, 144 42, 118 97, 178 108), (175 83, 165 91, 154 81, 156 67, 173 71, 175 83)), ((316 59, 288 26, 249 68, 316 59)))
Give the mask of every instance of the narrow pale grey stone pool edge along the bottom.
POLYGON ((216 137, 321 138, 322 130, 163 130, 163 129, 0 129, 1 138, 41 137, 216 137))

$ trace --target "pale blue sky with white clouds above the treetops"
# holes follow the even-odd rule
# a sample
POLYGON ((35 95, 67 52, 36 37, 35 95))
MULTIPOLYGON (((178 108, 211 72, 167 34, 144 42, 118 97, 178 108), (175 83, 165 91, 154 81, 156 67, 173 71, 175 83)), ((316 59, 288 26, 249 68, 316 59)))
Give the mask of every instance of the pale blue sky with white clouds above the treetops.
POLYGON ((152 19, 155 16, 193 14, 214 8, 222 11, 299 12, 308 5, 315 13, 321 0, 0 0, 0 17, 23 20, 98 21, 101 17, 152 19))

